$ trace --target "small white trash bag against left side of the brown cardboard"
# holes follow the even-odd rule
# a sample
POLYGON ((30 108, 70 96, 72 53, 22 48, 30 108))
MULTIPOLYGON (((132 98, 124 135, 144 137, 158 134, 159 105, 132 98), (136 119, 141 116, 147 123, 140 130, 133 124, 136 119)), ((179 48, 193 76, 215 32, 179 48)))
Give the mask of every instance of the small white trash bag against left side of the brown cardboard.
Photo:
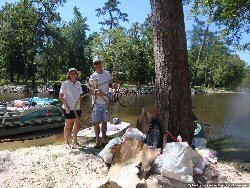
POLYGON ((120 144, 122 140, 120 138, 113 138, 109 143, 103 148, 103 150, 98 154, 99 157, 103 159, 105 163, 112 163, 113 154, 111 149, 113 146, 120 144))

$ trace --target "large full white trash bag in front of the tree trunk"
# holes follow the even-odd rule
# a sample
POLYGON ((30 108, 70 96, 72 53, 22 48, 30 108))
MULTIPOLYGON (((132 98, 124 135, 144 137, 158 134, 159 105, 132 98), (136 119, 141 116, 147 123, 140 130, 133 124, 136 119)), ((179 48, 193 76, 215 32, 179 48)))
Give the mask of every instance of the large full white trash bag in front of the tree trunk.
POLYGON ((188 143, 167 143, 163 155, 163 176, 193 183, 193 159, 197 158, 198 154, 188 143))

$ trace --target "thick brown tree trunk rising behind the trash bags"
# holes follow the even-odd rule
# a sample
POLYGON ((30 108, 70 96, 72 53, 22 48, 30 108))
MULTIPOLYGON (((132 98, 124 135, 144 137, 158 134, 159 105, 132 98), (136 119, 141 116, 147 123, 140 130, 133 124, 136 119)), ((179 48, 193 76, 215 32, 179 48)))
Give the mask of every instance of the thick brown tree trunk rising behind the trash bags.
POLYGON ((193 138, 192 99, 181 0, 151 0, 156 61, 156 110, 166 133, 193 138))

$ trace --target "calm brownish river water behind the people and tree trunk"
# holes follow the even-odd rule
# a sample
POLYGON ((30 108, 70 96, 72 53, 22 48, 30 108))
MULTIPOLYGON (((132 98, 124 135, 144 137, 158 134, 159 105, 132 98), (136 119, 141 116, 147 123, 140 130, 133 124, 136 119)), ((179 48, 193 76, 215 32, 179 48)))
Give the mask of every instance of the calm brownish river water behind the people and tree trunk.
MULTIPOLYGON (((32 97, 34 94, 20 93, 0 93, 0 101, 11 101, 14 99, 32 97)), ((39 97, 53 97, 49 94, 35 94, 39 97)), ((201 122, 205 122, 207 133, 210 138, 219 138, 233 135, 249 139, 250 135, 250 94, 194 94, 192 95, 194 112, 201 122)), ((154 96, 140 95, 137 101, 127 108, 116 104, 111 113, 111 119, 119 117, 121 121, 136 123, 140 109, 144 107, 152 113, 154 96)), ((49 135, 47 138, 25 140, 24 142, 0 143, 0 149, 29 147, 46 144, 57 144, 63 142, 63 128, 50 132, 35 133, 35 135, 25 135, 25 137, 35 137, 49 135)))

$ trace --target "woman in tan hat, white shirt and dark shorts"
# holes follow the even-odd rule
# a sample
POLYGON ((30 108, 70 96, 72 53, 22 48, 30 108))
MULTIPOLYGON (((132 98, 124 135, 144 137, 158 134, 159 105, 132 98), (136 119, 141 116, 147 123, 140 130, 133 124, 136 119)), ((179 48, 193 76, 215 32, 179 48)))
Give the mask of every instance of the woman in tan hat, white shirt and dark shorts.
MULTIPOLYGON (((64 140, 65 144, 70 145, 69 136, 73 126, 73 145, 78 146, 77 142, 77 133, 80 129, 80 121, 76 118, 74 112, 75 104, 80 98, 80 95, 83 93, 81 83, 78 81, 80 76, 80 71, 75 68, 70 68, 67 73, 67 81, 62 83, 59 98, 63 103, 63 111, 65 116, 65 127, 64 127, 64 140)), ((81 104, 76 106, 76 113, 78 116, 81 116, 83 112, 83 107, 81 104)))

